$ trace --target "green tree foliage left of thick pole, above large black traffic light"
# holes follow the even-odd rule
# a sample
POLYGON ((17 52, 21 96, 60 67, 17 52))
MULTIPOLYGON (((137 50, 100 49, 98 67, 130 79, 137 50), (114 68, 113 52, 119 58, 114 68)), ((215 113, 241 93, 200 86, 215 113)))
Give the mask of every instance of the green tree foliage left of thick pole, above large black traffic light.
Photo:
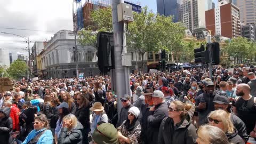
POLYGON ((77 41, 82 45, 90 45, 96 47, 97 31, 109 31, 112 32, 112 11, 110 7, 104 9, 98 9, 92 11, 91 21, 95 27, 82 29, 78 31, 77 41), (96 32, 95 32, 96 31, 96 32))

